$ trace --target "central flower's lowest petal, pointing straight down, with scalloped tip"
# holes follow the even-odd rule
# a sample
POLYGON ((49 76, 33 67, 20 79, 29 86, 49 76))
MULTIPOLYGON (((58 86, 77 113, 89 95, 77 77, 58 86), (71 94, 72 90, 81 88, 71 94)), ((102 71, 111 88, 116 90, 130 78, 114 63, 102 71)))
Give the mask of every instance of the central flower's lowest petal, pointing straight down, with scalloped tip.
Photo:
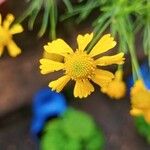
POLYGON ((85 98, 94 91, 93 85, 88 79, 76 80, 74 88, 74 96, 79 98, 85 98))

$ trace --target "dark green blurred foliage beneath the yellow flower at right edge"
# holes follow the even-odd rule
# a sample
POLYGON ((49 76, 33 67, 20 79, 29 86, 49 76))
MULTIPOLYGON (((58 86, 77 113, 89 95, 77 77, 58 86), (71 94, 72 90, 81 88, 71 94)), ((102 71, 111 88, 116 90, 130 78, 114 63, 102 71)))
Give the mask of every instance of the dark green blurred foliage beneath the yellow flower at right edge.
POLYGON ((139 134, 145 137, 150 144, 150 124, 141 116, 135 118, 135 125, 139 134))

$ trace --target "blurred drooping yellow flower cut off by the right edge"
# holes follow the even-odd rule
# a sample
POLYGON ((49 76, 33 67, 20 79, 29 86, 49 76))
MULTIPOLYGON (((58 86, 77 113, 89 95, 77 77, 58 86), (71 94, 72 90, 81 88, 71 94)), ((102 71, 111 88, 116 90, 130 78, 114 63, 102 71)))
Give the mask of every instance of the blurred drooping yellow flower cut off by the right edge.
POLYGON ((131 89, 132 116, 143 116, 150 123, 150 91, 146 89, 143 81, 137 80, 131 89))

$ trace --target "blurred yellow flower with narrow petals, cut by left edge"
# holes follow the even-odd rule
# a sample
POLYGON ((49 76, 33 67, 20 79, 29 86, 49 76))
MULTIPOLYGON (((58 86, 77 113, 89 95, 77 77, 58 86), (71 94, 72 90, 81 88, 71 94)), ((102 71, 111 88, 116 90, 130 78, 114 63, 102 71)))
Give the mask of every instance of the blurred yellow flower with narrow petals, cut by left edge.
POLYGON ((12 40, 14 34, 21 33, 23 28, 20 24, 14 24, 14 16, 8 14, 2 24, 2 16, 0 14, 0 56, 3 54, 4 47, 7 46, 8 53, 12 57, 16 57, 21 53, 21 49, 12 40))

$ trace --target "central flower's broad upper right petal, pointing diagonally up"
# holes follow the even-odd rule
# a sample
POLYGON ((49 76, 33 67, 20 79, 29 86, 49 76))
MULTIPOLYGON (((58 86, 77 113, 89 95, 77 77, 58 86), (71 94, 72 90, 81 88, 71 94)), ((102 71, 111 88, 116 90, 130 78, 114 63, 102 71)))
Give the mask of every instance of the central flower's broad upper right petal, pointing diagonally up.
POLYGON ((115 47, 116 42, 114 41, 114 38, 111 37, 110 34, 104 35, 94 46, 94 48, 90 52, 90 56, 94 57, 96 55, 99 55, 101 53, 104 53, 113 47, 115 47))

